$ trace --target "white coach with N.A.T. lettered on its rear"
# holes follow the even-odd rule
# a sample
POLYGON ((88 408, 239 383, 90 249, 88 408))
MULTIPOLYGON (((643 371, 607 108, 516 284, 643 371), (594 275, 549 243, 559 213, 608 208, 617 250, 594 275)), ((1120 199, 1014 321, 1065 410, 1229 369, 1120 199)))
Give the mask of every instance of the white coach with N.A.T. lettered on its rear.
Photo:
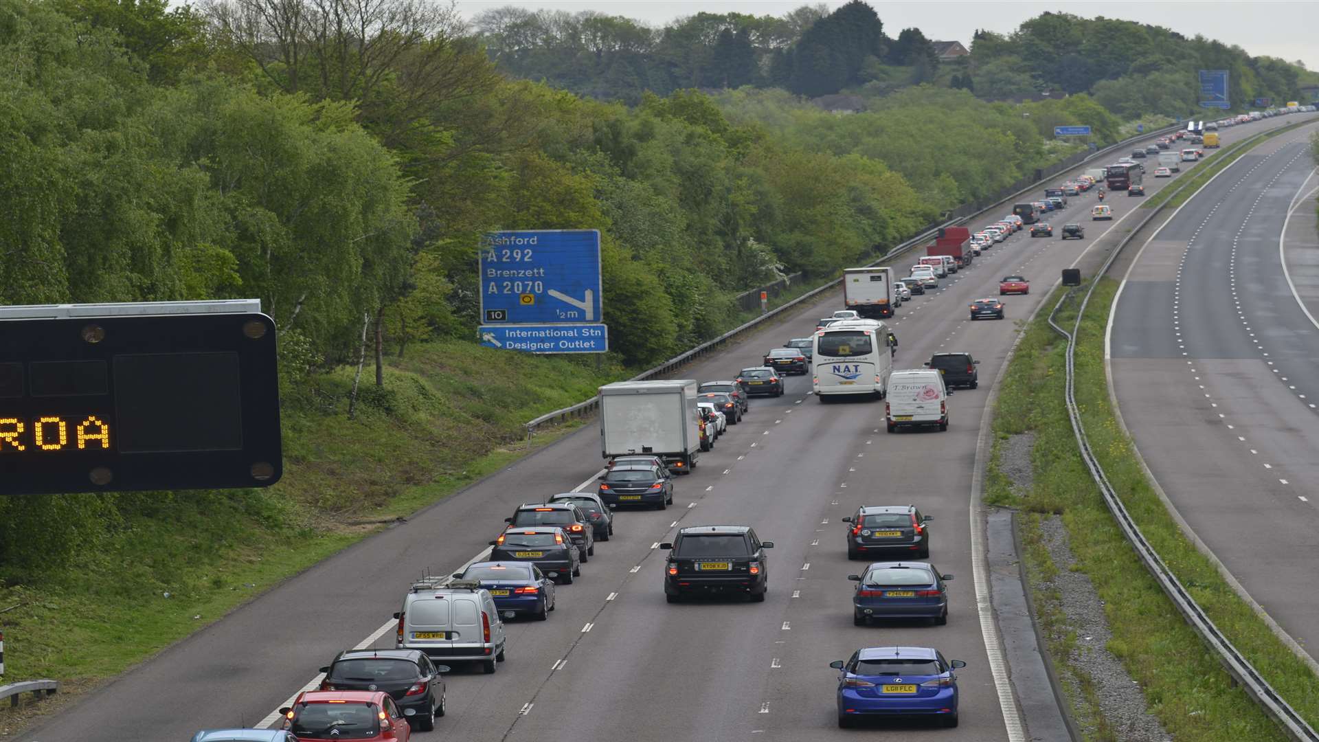
POLYGON ((882 399, 893 370, 892 337, 888 325, 877 320, 835 322, 815 333, 815 396, 820 401, 844 395, 882 399))

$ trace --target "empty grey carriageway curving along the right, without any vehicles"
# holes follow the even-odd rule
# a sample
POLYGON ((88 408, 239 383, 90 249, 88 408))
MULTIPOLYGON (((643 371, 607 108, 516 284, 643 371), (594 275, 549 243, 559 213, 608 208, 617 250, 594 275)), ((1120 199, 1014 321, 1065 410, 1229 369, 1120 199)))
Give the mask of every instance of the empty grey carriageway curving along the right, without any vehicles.
POLYGON ((1107 353, 1122 417, 1163 492, 1319 658, 1319 325, 1314 201, 1302 198, 1315 186, 1316 128, 1242 156, 1153 235, 1125 275, 1107 353), (1287 230, 1299 243, 1287 256, 1299 296, 1283 269, 1290 211, 1308 227, 1287 230))

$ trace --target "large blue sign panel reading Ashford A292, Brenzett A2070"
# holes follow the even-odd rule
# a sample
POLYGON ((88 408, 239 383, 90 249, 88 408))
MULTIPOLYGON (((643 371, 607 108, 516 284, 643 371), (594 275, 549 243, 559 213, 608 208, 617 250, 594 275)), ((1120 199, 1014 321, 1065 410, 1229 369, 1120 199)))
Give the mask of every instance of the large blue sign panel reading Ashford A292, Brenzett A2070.
POLYGON ((480 275, 487 323, 600 321, 599 230, 491 232, 480 275))

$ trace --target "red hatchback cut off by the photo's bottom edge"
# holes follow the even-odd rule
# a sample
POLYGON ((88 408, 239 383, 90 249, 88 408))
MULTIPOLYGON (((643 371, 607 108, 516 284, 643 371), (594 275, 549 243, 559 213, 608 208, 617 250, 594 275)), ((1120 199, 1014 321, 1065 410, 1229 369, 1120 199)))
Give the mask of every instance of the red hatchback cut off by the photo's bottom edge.
POLYGON ((284 729, 298 742, 353 739, 408 742, 412 727, 383 691, 303 691, 293 706, 280 709, 284 729))

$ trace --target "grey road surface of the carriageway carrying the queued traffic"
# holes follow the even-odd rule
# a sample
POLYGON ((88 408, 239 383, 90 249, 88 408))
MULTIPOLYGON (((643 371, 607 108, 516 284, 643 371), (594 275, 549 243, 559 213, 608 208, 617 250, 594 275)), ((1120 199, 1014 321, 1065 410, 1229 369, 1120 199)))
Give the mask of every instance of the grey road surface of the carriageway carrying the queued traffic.
MULTIPOLYGON (((1236 127, 1224 139, 1270 124, 1236 127)), ((1166 181, 1146 184, 1153 193, 1166 181)), ((809 376, 790 378, 782 397, 756 399, 744 422, 729 426, 694 473, 678 479, 675 507, 621 511, 615 539, 596 548, 576 584, 559 589, 550 621, 508 624, 508 661, 497 673, 456 668, 448 676, 448 716, 437 720, 434 737, 832 739, 847 733, 836 729, 838 676, 828 663, 864 646, 921 644, 967 661, 958 673, 960 726, 898 724, 872 734, 1008 739, 969 548, 972 520, 981 527, 968 506, 985 397, 1017 321, 1104 232, 1128 217, 1126 226, 1137 220, 1140 202, 1116 195, 1108 199, 1115 220, 1091 222, 1083 214, 1095 197, 1072 198, 1049 220, 1084 223, 1084 240, 1021 232, 939 290, 902 305, 892 323, 901 342, 896 368, 921 367, 936 351, 967 351, 981 362, 984 384, 948 400, 946 433, 888 434, 882 403, 818 404, 809 376), (996 296, 1000 276, 1009 273, 1031 279, 1035 290, 1006 297, 1008 321, 971 322, 968 302, 996 296), (956 576, 948 623, 856 627, 845 576, 863 565, 847 561, 839 519, 860 504, 906 503, 934 516, 931 561, 956 576), (774 541, 766 602, 665 602, 657 543, 678 527, 707 523, 751 524, 774 541)), ((900 273, 914 260, 900 263, 900 273)), ((765 350, 810 334, 814 321, 840 304, 840 293, 826 292, 682 376, 721 379, 758 366, 765 350)), ((373 640, 390 646, 389 615, 409 578, 423 569, 456 570, 483 553, 518 503, 592 486, 600 463, 599 434, 587 426, 273 588, 21 739, 187 739, 197 729, 273 721, 273 709, 314 683, 317 667, 336 651, 373 640)))

